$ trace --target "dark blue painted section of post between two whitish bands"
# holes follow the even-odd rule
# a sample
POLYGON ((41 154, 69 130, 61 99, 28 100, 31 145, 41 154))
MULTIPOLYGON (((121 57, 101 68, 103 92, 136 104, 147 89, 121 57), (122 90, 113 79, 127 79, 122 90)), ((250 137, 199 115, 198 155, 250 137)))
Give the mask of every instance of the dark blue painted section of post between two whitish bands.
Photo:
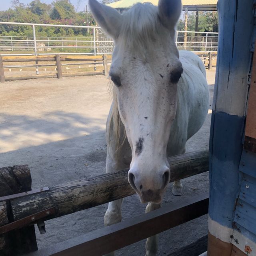
POLYGON ((212 112, 210 134, 210 218, 232 228, 238 198, 244 118, 212 112))

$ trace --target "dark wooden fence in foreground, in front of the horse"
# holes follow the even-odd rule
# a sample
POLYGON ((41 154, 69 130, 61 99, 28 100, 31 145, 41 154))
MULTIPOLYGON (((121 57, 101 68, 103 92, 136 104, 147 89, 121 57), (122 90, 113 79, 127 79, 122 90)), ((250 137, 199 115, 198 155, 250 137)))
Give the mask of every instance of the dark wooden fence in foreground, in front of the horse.
MULTIPOLYGON (((208 155, 208 150, 203 150, 168 158, 171 168, 170 182, 208 171, 208 155)), ((42 223, 44 220, 67 215, 135 194, 128 183, 127 173, 128 170, 123 170, 90 179, 66 182, 51 188, 40 188, 39 190, 26 192, 21 190, 23 193, 11 196, 8 196, 10 193, 0 193, 0 196, 2 196, 0 203, 6 202, 5 205, 0 204, 0 210, 2 209, 3 212, 3 214, 0 214, 0 223, 2 225, 0 225, 0 248, 5 242, 5 239, 1 240, 1 238, 17 228, 23 228, 28 225, 34 228, 33 225, 38 222, 42 223), (6 210, 4 211, 4 209, 6 210), (6 214, 4 212, 8 212, 8 224, 6 224, 6 214)), ((6 179, 2 177, 1 174, 0 184, 5 184, 6 179)), ((9 179, 9 182, 12 182, 12 176, 9 179)), ((40 254, 41 252, 38 252, 39 254, 35 255, 53 255, 51 254, 53 250, 55 250, 55 256, 74 255, 77 254, 77 248, 84 248, 83 250, 86 250, 87 256, 102 255, 116 250, 118 246, 123 247, 134 243, 192 220, 193 218, 197 218, 198 216, 202 216, 207 212, 208 194, 205 194, 191 200, 185 200, 182 203, 179 202, 167 208, 138 216, 127 222, 121 222, 120 224, 116 224, 117 226, 112 225, 108 228, 97 230, 97 232, 90 234, 90 236, 83 236, 81 239, 76 238, 72 240, 73 242, 66 241, 58 246, 54 246, 53 248, 55 249, 51 249, 52 251, 49 249, 47 253, 40 254), (156 225, 156 222, 159 223, 159 227, 156 225), (143 231, 137 234, 137 230, 143 231), (130 232, 133 235, 127 239, 126 234, 130 234, 130 232), (119 242, 113 242, 117 238, 120 239, 119 242), (78 242, 79 246, 82 247, 78 246, 78 242), (99 242, 101 246, 95 246, 99 242), (69 247, 66 248, 66 246, 69 247), (64 252, 65 250, 67 251, 64 252)), ((16 239, 14 238, 14 240, 16 239)), ((35 239, 35 236, 32 236, 31 239, 35 239)), ((16 249, 19 250, 19 247, 16 246, 16 249)), ((20 249, 20 251, 22 250, 20 249)), ((1 253, 0 250, 0 255, 5 255, 1 253)), ((9 253, 9 255, 11 254, 9 253)))

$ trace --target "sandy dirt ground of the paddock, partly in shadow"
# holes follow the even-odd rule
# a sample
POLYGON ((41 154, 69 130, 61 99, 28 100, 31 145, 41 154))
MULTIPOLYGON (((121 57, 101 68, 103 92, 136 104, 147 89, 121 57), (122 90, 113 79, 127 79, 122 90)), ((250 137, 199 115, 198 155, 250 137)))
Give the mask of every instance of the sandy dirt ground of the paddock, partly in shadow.
MULTIPOLYGON (((211 102, 215 71, 207 70, 211 102)), ((53 186, 105 172, 105 123, 110 107, 109 80, 102 76, 44 78, 0 84, 0 166, 28 164, 32 187, 53 186)), ((211 108, 211 105, 210 105, 211 108)), ((187 151, 208 147, 210 113, 201 130, 187 142, 187 151)), ((183 180, 184 195, 172 196, 169 185, 163 206, 208 191, 208 173, 183 180)), ((144 213, 136 195, 124 199, 123 219, 144 213)), ((46 222, 36 230, 38 247, 103 227, 107 204, 46 222)), ((207 234, 203 216, 160 234, 158 255, 207 234)), ((119 250, 117 256, 142 256, 145 241, 119 250)))

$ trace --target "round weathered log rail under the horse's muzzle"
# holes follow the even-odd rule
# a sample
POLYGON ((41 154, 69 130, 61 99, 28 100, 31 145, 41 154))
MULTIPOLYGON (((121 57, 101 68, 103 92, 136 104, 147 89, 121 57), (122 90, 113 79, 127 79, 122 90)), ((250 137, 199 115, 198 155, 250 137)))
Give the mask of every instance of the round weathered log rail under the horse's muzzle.
MULTIPOLYGON (((180 180, 208 170, 208 150, 190 152, 168 158, 171 179, 180 180)), ((56 208, 49 218, 56 218, 135 194, 128 170, 75 180, 56 185, 47 192, 11 200, 14 220, 19 220, 46 208, 56 208)))

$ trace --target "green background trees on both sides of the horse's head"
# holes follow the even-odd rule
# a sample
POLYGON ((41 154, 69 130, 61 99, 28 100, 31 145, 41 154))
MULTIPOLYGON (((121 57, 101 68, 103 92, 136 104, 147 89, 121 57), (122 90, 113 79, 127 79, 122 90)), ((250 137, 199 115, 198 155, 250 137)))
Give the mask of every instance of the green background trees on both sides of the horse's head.
MULTIPOLYGON (((116 0, 102 0, 104 4, 116 0)), ((0 11, 0 20, 7 22, 26 22, 44 24, 64 24, 78 26, 95 26, 92 14, 76 12, 70 0, 53 0, 52 4, 45 4, 42 0, 31 0, 28 5, 20 3, 20 0, 12 0, 12 8, 0 11), (88 21, 87 21, 88 19, 88 21)), ((188 31, 195 30, 196 12, 188 13, 188 31)), ((179 20, 178 30, 184 30, 184 19, 179 20)), ((218 32, 217 12, 199 12, 199 31, 218 32)), ((89 31, 92 32, 92 31, 89 31)), ((54 28, 36 26, 36 35, 42 37, 61 36, 89 36, 83 28, 54 28)), ((32 36, 31 26, 0 25, 2 36, 32 36)))

